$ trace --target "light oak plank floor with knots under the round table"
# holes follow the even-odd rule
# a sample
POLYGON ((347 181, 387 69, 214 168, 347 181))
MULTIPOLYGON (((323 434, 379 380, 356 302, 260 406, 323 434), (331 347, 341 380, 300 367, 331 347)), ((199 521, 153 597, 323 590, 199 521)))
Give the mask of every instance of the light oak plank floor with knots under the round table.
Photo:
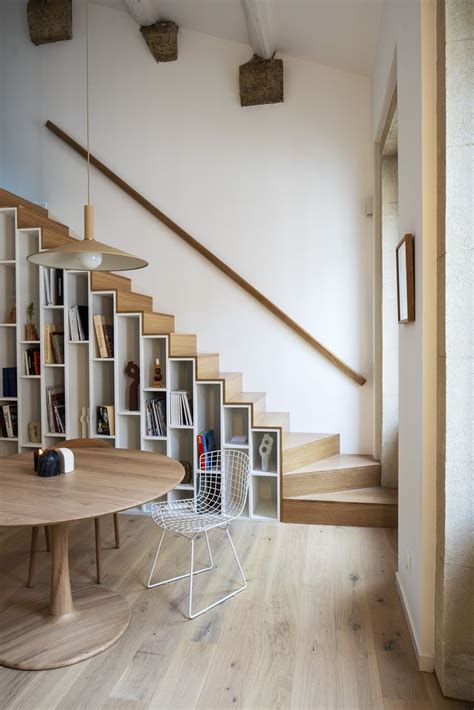
MULTIPOLYGON (((103 583, 132 606, 128 631, 69 668, 0 668, 1 710, 463 707, 417 671, 395 589, 396 531, 238 521, 234 541, 248 589, 187 621, 185 581, 144 588, 153 522, 122 515, 120 526, 115 550, 104 521, 103 583)), ((228 589, 228 578, 238 582, 222 531, 210 535, 218 568, 196 578, 203 605, 228 589)), ((92 584, 92 521, 74 525, 71 543, 73 584, 92 584)), ((26 589, 28 546, 26 529, 0 529, 0 609, 44 591, 50 555, 39 553, 37 585, 26 589)), ((187 555, 185 541, 170 536, 162 559, 168 576, 187 555)), ((203 542, 198 556, 205 561, 203 542)))

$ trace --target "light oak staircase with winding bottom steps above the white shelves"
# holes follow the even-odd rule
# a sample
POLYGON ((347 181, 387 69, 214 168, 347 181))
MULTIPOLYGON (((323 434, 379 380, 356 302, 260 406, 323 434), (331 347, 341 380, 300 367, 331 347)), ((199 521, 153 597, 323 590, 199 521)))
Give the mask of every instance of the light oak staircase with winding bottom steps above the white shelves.
MULTIPOLYGON (((42 248, 74 238, 47 210, 2 189, 0 207, 17 208, 19 228, 40 228, 42 248)), ((199 353, 196 335, 176 332, 174 316, 155 312, 130 279, 92 272, 91 289, 114 291, 119 313, 141 313, 144 335, 167 335, 170 357, 194 358, 198 380, 222 382, 224 404, 248 406, 253 428, 279 430, 282 522, 397 526, 397 491, 381 487, 379 462, 341 454, 339 434, 291 432, 288 412, 268 412, 264 392, 242 391, 242 374, 221 372, 218 353, 199 353)))

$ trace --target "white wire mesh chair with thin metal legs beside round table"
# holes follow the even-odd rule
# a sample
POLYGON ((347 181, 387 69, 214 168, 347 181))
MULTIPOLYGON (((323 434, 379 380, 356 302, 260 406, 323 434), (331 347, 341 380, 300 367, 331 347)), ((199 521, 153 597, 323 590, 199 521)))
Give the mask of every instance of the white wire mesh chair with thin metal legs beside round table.
POLYGON ((188 618, 194 619, 209 609, 221 604, 242 592, 247 587, 242 566, 240 564, 234 543, 229 532, 229 523, 237 518, 244 509, 249 488, 250 460, 243 451, 224 449, 202 454, 200 458, 199 488, 194 498, 175 500, 166 503, 153 503, 152 516, 155 523, 162 529, 160 542, 156 550, 153 564, 148 577, 147 587, 160 587, 169 582, 189 577, 188 618), (193 577, 201 572, 207 572, 214 567, 208 530, 222 528, 227 534, 232 552, 242 576, 243 585, 227 594, 209 606, 193 612, 193 577), (160 554, 165 532, 173 532, 187 538, 191 543, 190 571, 178 577, 153 582, 152 577, 160 554), (210 564, 202 569, 194 569, 194 542, 199 533, 204 533, 210 564))

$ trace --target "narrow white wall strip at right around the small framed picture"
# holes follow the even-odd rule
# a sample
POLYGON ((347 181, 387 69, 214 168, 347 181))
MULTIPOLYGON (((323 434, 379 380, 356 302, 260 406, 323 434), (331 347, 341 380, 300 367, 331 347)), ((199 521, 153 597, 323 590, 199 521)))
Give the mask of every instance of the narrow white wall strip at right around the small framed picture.
POLYGON ((377 142, 397 82, 399 234, 415 235, 416 321, 399 329, 398 584, 423 670, 432 670, 434 648, 436 146, 434 96, 429 93, 436 66, 433 17, 434 3, 429 0, 387 0, 372 99, 377 142))

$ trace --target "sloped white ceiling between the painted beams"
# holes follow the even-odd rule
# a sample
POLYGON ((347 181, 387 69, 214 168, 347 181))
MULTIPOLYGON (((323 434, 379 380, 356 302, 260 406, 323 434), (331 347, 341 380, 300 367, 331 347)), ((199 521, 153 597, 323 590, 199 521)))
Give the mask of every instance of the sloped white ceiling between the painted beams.
MULTIPOLYGON (((95 0, 127 11, 123 0, 95 0)), ((257 0, 268 9, 275 48, 337 69, 370 75, 384 0, 257 0)), ((249 44, 241 0, 147 0, 160 19, 249 44)))

